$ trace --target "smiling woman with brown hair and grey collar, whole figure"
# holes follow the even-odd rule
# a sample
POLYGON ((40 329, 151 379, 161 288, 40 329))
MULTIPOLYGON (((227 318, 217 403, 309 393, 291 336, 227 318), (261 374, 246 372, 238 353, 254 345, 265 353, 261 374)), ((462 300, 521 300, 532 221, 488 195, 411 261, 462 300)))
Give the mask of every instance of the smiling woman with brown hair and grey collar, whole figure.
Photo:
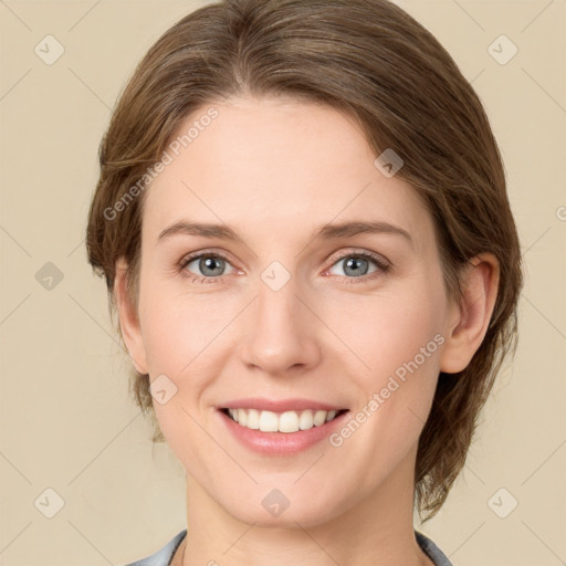
POLYGON ((187 471, 139 565, 449 566, 413 528, 516 347, 484 109, 384 0, 227 0, 149 50, 101 145, 88 260, 187 471))

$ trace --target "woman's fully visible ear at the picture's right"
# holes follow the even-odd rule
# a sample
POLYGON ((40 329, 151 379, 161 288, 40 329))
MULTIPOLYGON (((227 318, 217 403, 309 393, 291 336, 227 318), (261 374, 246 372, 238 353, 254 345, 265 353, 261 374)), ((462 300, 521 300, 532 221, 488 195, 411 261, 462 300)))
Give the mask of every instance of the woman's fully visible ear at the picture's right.
POLYGON ((492 253, 471 260, 463 276, 462 304, 453 304, 446 327, 446 343, 440 355, 440 370, 462 371, 480 347, 497 296, 500 264, 492 253))

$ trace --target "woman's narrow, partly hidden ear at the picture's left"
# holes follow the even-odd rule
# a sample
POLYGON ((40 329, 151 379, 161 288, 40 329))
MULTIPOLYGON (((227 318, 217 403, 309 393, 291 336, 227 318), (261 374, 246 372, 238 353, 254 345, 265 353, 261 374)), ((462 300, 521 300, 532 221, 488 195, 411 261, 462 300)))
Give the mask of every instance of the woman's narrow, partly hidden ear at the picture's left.
POLYGON ((114 281, 114 296, 119 316, 122 336, 128 348, 129 357, 139 374, 147 374, 147 359, 142 336, 142 326, 134 298, 126 287, 127 263, 123 258, 116 262, 116 277, 114 281))

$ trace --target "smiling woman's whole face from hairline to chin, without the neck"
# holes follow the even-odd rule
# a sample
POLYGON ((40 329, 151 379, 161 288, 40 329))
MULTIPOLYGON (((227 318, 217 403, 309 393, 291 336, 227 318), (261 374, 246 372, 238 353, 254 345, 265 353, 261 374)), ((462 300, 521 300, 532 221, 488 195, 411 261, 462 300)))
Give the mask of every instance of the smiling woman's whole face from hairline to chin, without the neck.
POLYGON ((139 327, 126 329, 169 446, 211 500, 258 524, 412 493, 454 313, 431 217, 335 109, 232 98, 179 134, 210 107, 147 189, 139 327), (268 430, 228 407, 255 408, 234 415, 268 430), (310 407, 315 422, 347 412, 313 427, 310 407))

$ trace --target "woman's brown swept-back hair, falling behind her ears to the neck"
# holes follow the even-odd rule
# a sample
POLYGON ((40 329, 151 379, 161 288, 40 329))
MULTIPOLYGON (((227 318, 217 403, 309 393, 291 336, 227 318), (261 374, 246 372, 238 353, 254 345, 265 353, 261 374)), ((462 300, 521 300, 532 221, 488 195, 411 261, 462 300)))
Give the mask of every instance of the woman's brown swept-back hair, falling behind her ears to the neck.
MULTIPOLYGON (((129 198, 132 188, 188 114, 232 95, 333 106, 359 123, 376 156, 386 148, 401 156, 397 175, 432 214, 452 298, 461 300, 461 269, 474 255, 492 252, 500 262, 485 338, 463 371, 440 374, 419 439, 415 493, 428 521, 463 468, 480 411, 517 344, 520 243, 483 106, 434 36, 386 0, 226 0, 188 14, 140 62, 101 144, 86 248, 106 279, 111 313, 120 256, 137 296, 145 192, 129 198), (118 201, 127 206, 116 212, 118 201)), ((148 376, 134 371, 130 387, 153 418, 154 441, 165 440, 148 376)))

